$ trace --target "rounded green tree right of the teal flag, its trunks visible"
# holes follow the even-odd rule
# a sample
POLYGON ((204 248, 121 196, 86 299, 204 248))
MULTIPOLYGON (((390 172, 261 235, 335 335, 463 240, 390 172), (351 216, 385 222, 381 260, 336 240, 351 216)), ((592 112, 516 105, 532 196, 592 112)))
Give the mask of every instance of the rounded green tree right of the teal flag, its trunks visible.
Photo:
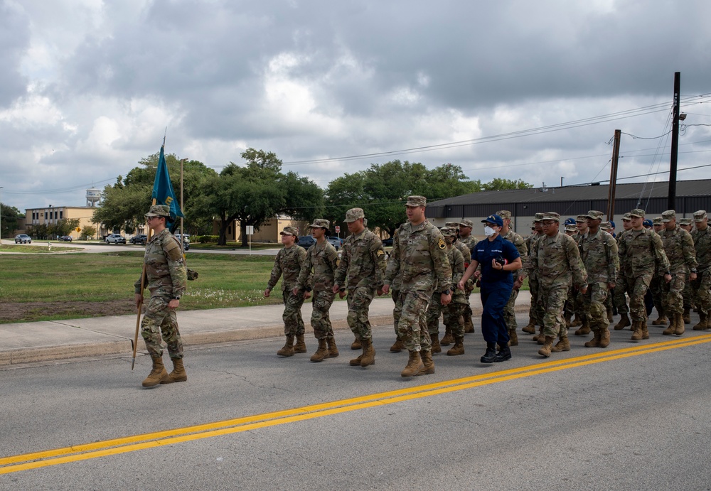
POLYGON ((323 192, 311 180, 294 172, 282 173, 282 161, 273 152, 247 149, 241 153, 247 165, 230 162, 219 176, 203 183, 196 210, 220 220, 218 244, 227 243, 227 230, 240 221, 242 247, 247 247, 247 226, 259 230, 267 220, 282 213, 294 218, 314 217, 323 207, 323 192))

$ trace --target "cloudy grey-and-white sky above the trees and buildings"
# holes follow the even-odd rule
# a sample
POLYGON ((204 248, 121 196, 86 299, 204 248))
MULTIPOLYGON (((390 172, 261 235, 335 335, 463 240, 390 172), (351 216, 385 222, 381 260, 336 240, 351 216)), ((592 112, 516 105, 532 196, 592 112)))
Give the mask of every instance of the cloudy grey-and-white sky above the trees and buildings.
POLYGON ((324 188, 395 158, 606 180, 615 129, 619 177, 647 176, 668 171, 675 71, 679 167, 705 166, 710 18, 707 0, 0 0, 1 200, 84 205, 166 127, 181 158, 274 151, 324 188))

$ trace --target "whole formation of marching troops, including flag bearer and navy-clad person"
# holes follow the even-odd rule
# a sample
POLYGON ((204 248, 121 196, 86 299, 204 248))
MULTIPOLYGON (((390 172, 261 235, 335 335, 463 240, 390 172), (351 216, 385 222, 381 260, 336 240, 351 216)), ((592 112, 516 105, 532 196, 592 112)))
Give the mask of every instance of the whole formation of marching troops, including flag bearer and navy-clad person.
MULTIPOLYGON (((510 347, 518 345, 514 306, 526 279, 531 306, 522 332, 534 335, 543 357, 571 349, 569 328, 578 327, 574 335, 592 333, 585 347, 607 347, 615 313, 620 320, 614 329, 630 327, 631 340, 649 338, 653 308, 658 312, 653 325, 669 323, 664 335, 683 335, 692 308, 700 317, 693 329, 711 328, 711 232, 704 210, 694 213, 693 222, 680 223, 674 210, 654 220, 646 220, 644 210, 631 210, 619 234, 614 222, 604 222, 597 210, 565 220, 564 230, 558 213, 537 213, 526 238, 510 229, 511 213, 500 210, 481 221, 486 238, 477 242, 471 220, 447 222, 438 229, 425 217, 426 206, 423 196, 407 199, 407 222, 395 232, 389 255, 368 230, 360 208, 346 212, 350 235, 340 259, 327 240, 328 220, 309 225, 316 239, 309 250, 296 244, 298 230, 284 227, 284 247, 264 290, 268 297, 281 279, 286 342, 277 355, 306 352, 301 306, 313 296, 311 326, 318 348, 311 362, 338 357, 329 310, 339 295, 348 303, 348 326, 355 338, 351 348, 362 350, 349 364, 374 365, 368 310, 376 294, 390 293, 395 303, 390 352, 409 352, 402 377, 433 374, 432 355, 441 353, 442 346, 452 345, 449 356, 464 355, 464 334, 474 331, 469 298, 479 286, 486 341, 481 362, 505 362, 512 357, 510 347), (445 331, 441 340, 440 318, 445 331)), ((136 283, 138 305, 141 287, 151 290, 142 335, 154 367, 145 387, 187 379, 174 311, 185 288, 185 262, 178 242, 171 242, 161 227, 168 214, 164 208, 151 207, 146 215, 156 236, 146 246, 146 276, 136 283), (161 331, 173 360, 171 374, 161 359, 161 331)))

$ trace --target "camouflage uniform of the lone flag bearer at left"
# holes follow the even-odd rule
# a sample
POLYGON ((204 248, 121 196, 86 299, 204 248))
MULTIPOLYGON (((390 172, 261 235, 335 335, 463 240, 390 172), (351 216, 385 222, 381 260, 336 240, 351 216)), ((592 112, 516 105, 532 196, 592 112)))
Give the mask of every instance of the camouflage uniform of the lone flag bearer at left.
MULTIPOLYGON (((154 207, 151 207, 151 211, 154 207)), ((141 321, 141 336, 151 358, 163 355, 161 332, 173 359, 183 357, 183 342, 178 330, 176 311, 168 308, 173 298, 179 298, 186 288, 188 272, 183 249, 170 230, 161 230, 146 244, 144 256, 144 286, 151 292, 146 315, 141 321)), ((141 279, 134 283, 135 293, 142 294, 141 279)))

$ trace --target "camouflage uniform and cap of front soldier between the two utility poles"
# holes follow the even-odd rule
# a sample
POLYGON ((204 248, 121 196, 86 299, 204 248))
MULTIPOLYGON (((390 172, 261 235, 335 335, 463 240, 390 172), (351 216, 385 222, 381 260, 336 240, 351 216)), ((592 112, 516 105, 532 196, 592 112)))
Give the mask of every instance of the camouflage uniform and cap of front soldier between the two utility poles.
MULTIPOLYGON (((644 218, 644 210, 632 210, 630 215, 644 218)), ((669 261, 658 234, 645 228, 624 232, 619 241, 619 262, 623 266, 617 283, 626 283, 631 318, 645 330, 644 293, 657 271, 661 271, 662 276, 669 271, 669 261)))

